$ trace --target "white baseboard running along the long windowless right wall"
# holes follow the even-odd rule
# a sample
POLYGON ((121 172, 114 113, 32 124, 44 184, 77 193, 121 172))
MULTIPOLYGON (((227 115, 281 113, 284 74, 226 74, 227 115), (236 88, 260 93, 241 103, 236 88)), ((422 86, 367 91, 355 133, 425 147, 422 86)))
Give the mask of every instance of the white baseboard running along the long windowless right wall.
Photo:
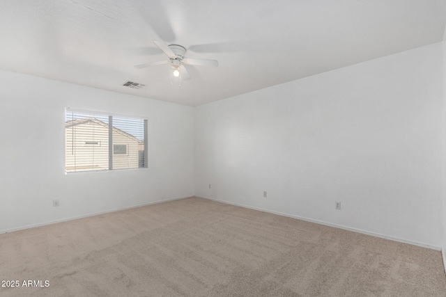
MULTIPOLYGON (((347 227, 347 226, 344 226, 344 225, 337 225, 337 224, 325 222, 323 220, 314 220, 312 218, 305 218, 303 216, 295 216, 293 214, 286 214, 286 213, 279 212, 279 211, 271 211, 269 209, 262 209, 262 208, 259 208, 259 207, 252 207, 252 206, 245 205, 245 204, 240 204, 240 203, 235 203, 235 202, 228 202, 228 201, 214 199, 214 198, 208 198, 208 197, 200 196, 200 195, 195 195, 195 197, 203 198, 203 199, 207 199, 207 200, 213 200, 213 201, 217 201, 217 202, 222 202, 222 203, 225 203, 225 204, 236 205, 238 207, 245 207, 245 208, 248 208, 248 209, 255 209, 255 210, 258 210, 258 211, 265 211, 265 212, 268 212, 270 214, 278 214, 279 216, 288 216, 290 218, 297 218, 299 220, 306 220, 308 222, 321 224, 321 225, 326 225, 326 226, 330 226, 330 227, 336 227, 336 228, 339 228, 339 229, 344 229, 344 230, 348 230, 348 231, 358 232, 358 233, 367 234, 367 235, 371 235, 371 236, 376 236, 376 237, 380 237, 382 239, 389 239, 389 240, 392 240, 392 241, 399 241, 399 242, 402 242, 402 243, 409 243, 409 244, 412 244, 414 246, 422 246, 423 248, 431 248, 433 250, 442 250, 440 246, 432 246, 430 244, 422 243, 422 242, 418 242, 418 241, 411 241, 411 240, 408 240, 408 239, 401 239, 399 237, 389 236, 389 235, 380 234, 380 233, 376 233, 376 232, 369 232, 369 231, 366 231, 366 230, 361 230, 361 229, 356 229, 356 228, 352 228, 352 227, 347 227)), ((445 258, 445 252, 443 251, 443 262, 445 261, 445 259, 446 259, 445 258)))

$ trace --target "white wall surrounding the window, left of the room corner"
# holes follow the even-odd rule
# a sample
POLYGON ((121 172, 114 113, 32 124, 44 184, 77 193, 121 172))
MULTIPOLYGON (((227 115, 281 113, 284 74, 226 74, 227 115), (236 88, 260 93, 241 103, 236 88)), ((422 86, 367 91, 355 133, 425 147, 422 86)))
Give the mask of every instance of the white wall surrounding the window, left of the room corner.
POLYGON ((0 71, 0 123, 0 232, 194 194, 190 106, 0 71), (147 118, 148 170, 66 175, 66 106, 147 118))

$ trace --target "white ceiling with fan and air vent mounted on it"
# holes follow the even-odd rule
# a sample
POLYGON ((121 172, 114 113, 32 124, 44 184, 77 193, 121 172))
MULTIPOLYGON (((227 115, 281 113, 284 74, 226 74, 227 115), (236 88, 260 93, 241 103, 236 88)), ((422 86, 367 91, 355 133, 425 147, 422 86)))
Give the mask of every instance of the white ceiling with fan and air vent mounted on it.
POLYGON ((3 0, 0 69, 196 106, 441 42, 445 21, 446 0, 3 0), (220 67, 178 88, 134 67, 166 58, 153 40, 220 67))

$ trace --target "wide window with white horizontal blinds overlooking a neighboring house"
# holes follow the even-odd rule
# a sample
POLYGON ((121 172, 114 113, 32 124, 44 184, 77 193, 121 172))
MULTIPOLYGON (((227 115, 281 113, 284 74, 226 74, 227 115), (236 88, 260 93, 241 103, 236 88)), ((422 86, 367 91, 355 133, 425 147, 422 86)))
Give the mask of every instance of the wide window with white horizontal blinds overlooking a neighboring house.
POLYGON ((65 118, 66 172, 147 168, 147 120, 71 109, 65 118))

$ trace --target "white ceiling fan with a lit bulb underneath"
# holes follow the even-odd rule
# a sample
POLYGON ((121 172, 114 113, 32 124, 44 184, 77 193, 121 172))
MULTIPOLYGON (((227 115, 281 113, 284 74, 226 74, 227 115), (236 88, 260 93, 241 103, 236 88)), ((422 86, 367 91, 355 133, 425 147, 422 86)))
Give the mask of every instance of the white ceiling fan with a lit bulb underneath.
POLYGON ((144 68, 170 63, 174 77, 179 77, 181 74, 181 77, 183 79, 190 79, 190 74, 187 72, 184 65, 218 67, 218 61, 216 60, 185 58, 184 55, 186 54, 186 49, 185 47, 182 47, 180 45, 167 45, 167 43, 157 40, 153 40, 153 43, 155 43, 155 45, 159 47, 164 52, 164 54, 166 54, 166 56, 169 57, 169 60, 145 63, 141 65, 135 65, 134 67, 144 68))

